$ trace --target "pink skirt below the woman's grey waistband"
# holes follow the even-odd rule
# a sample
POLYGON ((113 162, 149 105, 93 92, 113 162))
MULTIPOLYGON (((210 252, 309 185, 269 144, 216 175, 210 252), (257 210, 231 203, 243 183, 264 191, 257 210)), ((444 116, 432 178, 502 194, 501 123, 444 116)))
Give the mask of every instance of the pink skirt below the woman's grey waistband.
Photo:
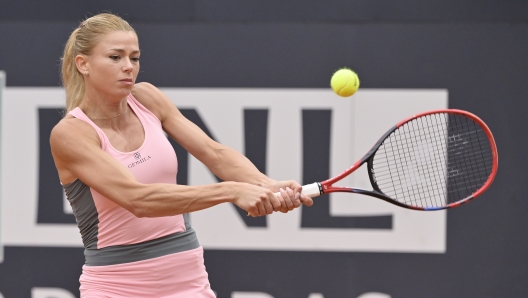
POLYGON ((108 266, 83 266, 81 298, 214 298, 203 248, 108 266))

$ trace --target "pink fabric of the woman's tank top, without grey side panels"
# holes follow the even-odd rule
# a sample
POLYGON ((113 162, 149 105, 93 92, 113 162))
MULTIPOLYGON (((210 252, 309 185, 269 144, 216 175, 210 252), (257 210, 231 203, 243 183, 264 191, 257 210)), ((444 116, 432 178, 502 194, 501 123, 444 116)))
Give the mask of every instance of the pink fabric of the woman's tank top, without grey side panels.
MULTIPOLYGON (((69 114, 90 124, 99 135, 101 148, 132 172, 139 182, 175 184, 178 162, 174 149, 162 129, 161 122, 132 95, 128 96, 127 102, 141 121, 145 132, 143 144, 132 152, 121 152, 115 149, 105 133, 80 108, 75 108, 69 114)), ((108 187, 112 186, 108 185, 108 187)), ((90 192, 98 217, 97 236, 93 237, 97 238, 96 247, 94 247, 96 249, 140 243, 186 231, 183 215, 137 218, 94 189, 90 188, 90 192)), ((83 235, 83 239, 84 237, 83 235)))

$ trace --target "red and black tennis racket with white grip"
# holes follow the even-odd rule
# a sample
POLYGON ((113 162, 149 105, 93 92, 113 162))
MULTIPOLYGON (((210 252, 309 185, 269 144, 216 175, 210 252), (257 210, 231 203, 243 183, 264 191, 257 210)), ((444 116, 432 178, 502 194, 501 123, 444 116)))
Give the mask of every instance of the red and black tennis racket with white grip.
POLYGON ((414 210, 448 209, 481 195, 497 167, 497 146, 481 119, 462 110, 434 110, 396 124, 352 167, 304 185, 302 193, 351 192, 414 210), (334 185, 365 163, 372 190, 334 185))

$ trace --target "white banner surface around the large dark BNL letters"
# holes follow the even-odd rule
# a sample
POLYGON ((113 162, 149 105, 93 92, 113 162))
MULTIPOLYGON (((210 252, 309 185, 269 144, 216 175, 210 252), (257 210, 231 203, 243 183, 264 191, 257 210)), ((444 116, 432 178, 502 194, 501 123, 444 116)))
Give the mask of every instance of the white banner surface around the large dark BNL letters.
MULTIPOLYGON (((0 79, 2 77, 0 76, 0 79)), ((341 98, 327 89, 163 88, 180 108, 195 110, 215 139, 244 152, 244 110, 268 115, 266 173, 277 180, 303 179, 302 112, 331 114, 330 175, 361 158, 388 129, 413 114, 447 108, 446 90, 362 89, 341 98)), ((2 94, 0 93, 0 96, 2 94)), ((82 246, 73 223, 38 223, 39 109, 64 108, 61 88, 6 88, 1 97, 1 229, 3 245, 82 246)), ((316 133, 316 132, 314 132, 316 133)), ((327 177, 329 178, 329 177, 327 177)), ((188 184, 215 183, 189 159, 188 184)), ((311 183, 315 181, 306 181, 311 183)), ((365 168, 340 182, 370 189, 365 168)), ((327 200, 327 198, 316 198, 327 200)), ((444 253, 445 211, 420 212, 355 194, 329 196, 330 217, 392 216, 386 229, 304 227, 304 209, 272 214, 265 226, 248 226, 231 204, 195 212, 192 226, 205 249, 444 253)), ((66 205, 65 214, 70 211, 66 205)), ((0 250, 1 251, 1 250, 0 250)))

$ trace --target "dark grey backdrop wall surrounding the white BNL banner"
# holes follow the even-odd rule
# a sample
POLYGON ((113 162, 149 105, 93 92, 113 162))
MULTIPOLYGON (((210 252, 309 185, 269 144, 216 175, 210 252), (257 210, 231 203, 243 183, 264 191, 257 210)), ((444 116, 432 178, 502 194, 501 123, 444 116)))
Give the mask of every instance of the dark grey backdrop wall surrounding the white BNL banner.
MULTIPOLYGON (((60 87, 68 36, 100 12, 136 29, 138 81, 315 92, 346 66, 362 90, 445 89, 449 108, 477 114, 494 133, 496 180, 470 205, 447 212, 443 253, 205 247, 218 297, 528 297, 528 1, 0 0, 3 100, 12 91, 60 87)), ((0 153, 16 146, 4 142, 0 153)), ((53 164, 47 169, 40 175, 56 175, 53 164)), ((10 173, 2 174, 6 181, 10 173)), ((32 224, 75 223, 42 212, 32 224)), ((10 244, 6 231, 17 227, 1 214, 0 297, 78 297, 83 249, 10 244)))

